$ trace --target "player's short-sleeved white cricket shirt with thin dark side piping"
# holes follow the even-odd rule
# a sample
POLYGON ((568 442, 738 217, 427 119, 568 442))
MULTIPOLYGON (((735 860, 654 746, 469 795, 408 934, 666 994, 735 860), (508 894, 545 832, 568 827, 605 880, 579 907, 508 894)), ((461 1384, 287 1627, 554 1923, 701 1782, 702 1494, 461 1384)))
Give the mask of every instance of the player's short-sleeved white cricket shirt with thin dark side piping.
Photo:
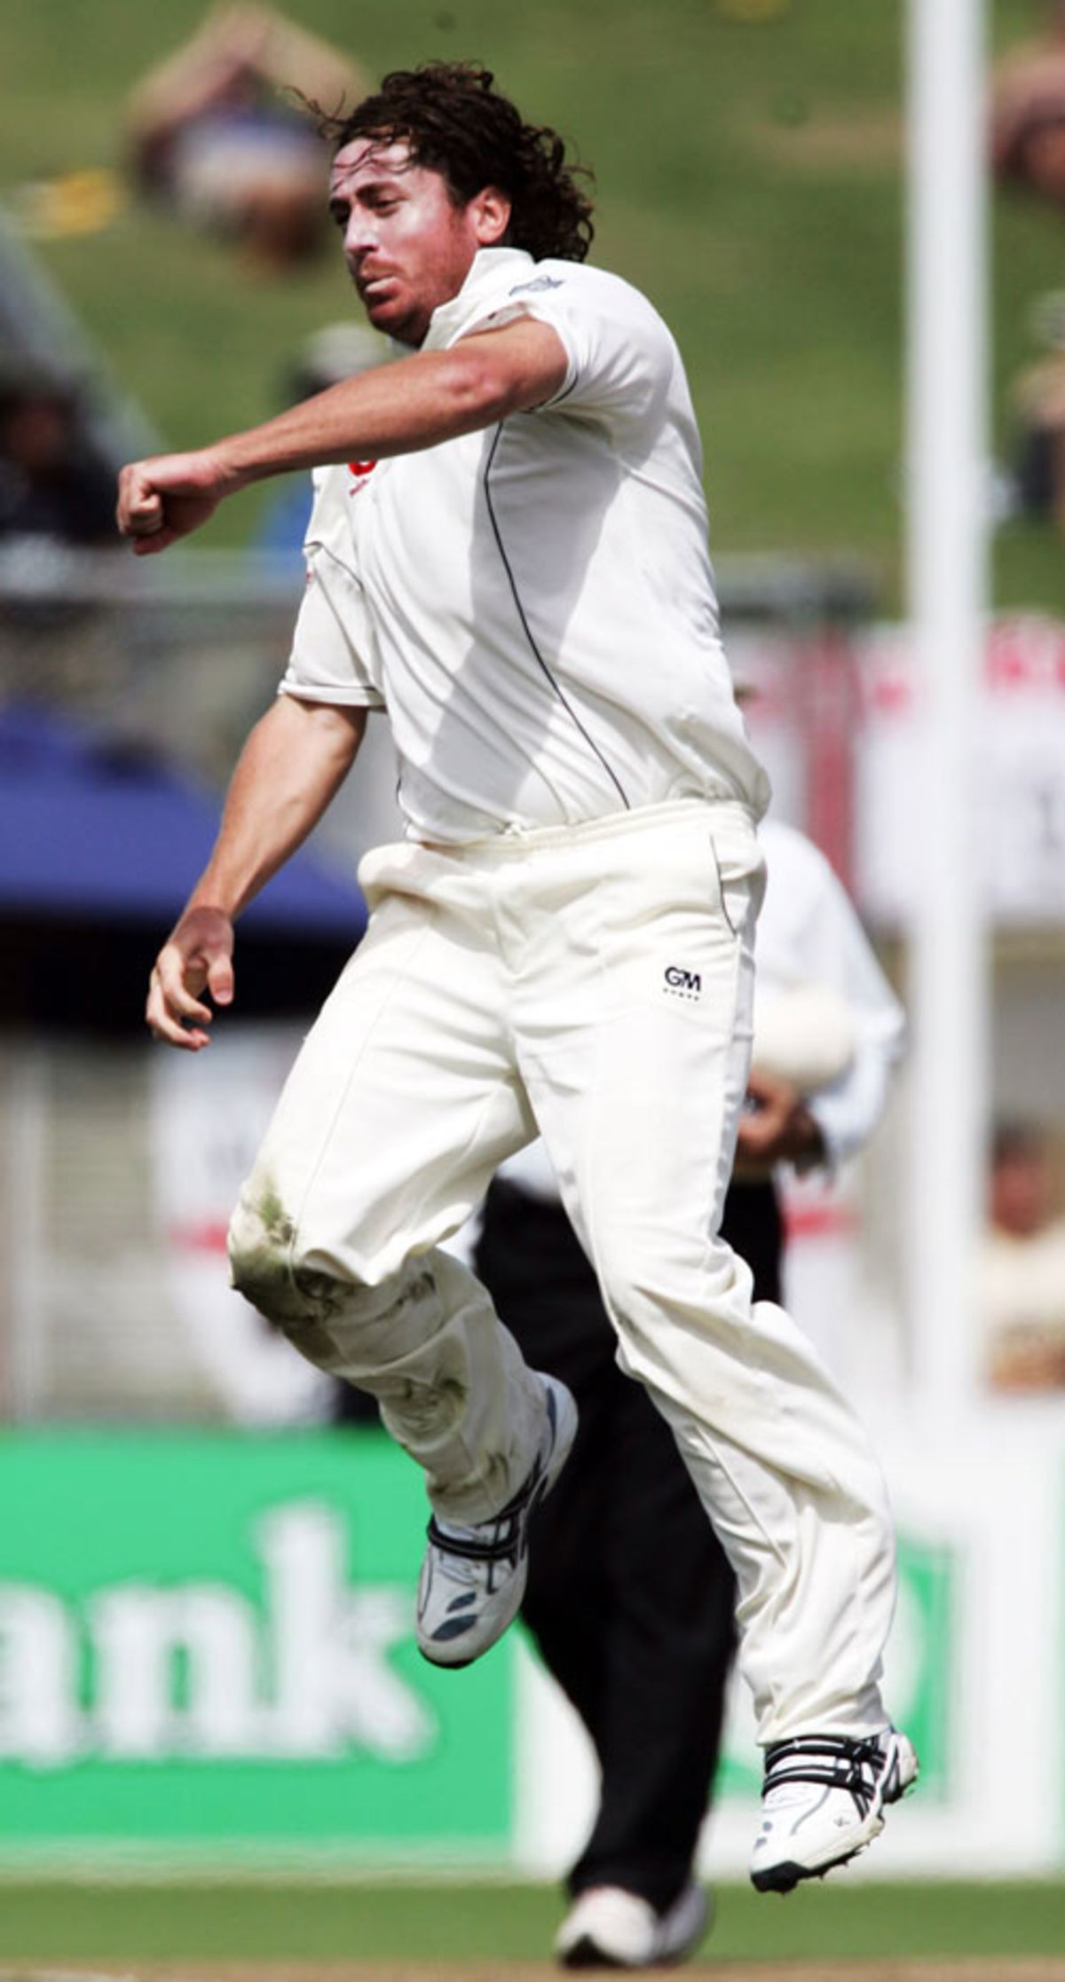
POLYGON ((315 472, 282 692, 387 710, 414 838, 686 797, 762 813, 676 343, 617 275, 488 248, 422 349, 518 315, 567 351, 553 400, 418 454, 315 472))

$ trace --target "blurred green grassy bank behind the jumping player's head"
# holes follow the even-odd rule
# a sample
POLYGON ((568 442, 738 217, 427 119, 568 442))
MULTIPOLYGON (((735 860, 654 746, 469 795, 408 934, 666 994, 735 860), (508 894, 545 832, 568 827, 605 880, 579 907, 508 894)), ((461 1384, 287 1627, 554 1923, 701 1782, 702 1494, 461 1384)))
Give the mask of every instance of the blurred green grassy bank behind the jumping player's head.
MULTIPOLYGON (((0 198, 36 174, 119 165, 131 83, 204 0, 8 0, 0 198)), ((599 180, 595 254, 647 287, 688 359, 718 553, 853 551, 898 597, 902 559, 904 0, 288 0, 373 75, 430 55, 488 61, 528 113, 577 137, 599 180)), ((996 46, 1037 26, 996 0, 996 46)), ((1059 281, 1065 218, 996 204, 994 406, 1031 357, 1031 297, 1059 281)), ((44 260, 167 444, 262 418, 286 359, 353 297, 335 256, 264 277, 131 206, 44 260)), ((242 541, 266 492, 222 509, 242 541)), ((1041 529, 1002 533, 1000 603, 1065 610, 1041 529)))

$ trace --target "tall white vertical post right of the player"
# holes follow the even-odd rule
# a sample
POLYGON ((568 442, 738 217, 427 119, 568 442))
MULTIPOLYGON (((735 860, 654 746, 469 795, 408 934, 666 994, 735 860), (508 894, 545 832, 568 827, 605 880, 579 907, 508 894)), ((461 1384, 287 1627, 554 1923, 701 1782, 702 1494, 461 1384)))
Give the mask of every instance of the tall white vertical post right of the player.
POLYGON ((976 714, 988 569, 984 0, 910 0, 908 612, 920 747, 910 932, 910 1318, 932 1407, 974 1385, 988 957, 976 714))

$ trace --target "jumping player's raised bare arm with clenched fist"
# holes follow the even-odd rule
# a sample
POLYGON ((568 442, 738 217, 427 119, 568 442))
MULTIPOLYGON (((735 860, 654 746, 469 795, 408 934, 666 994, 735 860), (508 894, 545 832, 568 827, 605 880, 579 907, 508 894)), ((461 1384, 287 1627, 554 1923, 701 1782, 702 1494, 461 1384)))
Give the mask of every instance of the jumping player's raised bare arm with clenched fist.
POLYGON ((294 468, 416 454, 474 434, 512 412, 541 406, 559 390, 565 371, 561 339, 533 317, 464 337, 450 351, 379 365, 210 448, 123 468, 119 531, 139 555, 165 551, 250 482, 294 468))

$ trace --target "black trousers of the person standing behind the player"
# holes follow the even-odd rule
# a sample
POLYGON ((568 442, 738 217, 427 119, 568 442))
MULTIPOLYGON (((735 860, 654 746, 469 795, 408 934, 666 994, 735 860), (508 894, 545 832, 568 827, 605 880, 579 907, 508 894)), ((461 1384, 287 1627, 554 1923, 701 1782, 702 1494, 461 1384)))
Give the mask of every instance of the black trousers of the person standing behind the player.
MULTIPOLYGON (((732 1185, 724 1235, 779 1300, 771 1183, 732 1185)), ((617 1338, 561 1205, 496 1181, 474 1270, 533 1370, 569 1385, 573 1453, 535 1514, 522 1617, 601 1768, 567 1887, 619 1885, 664 1913, 692 1877, 736 1649, 736 1584, 672 1433, 615 1364, 617 1338)))

